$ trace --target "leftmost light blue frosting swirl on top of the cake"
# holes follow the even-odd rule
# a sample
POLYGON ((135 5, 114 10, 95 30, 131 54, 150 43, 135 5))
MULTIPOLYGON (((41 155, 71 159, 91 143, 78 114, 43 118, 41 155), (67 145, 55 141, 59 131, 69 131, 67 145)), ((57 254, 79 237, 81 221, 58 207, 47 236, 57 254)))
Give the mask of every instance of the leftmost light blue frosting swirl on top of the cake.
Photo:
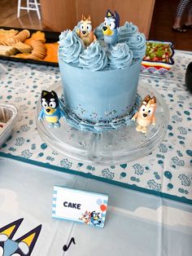
POLYGON ((78 63, 84 46, 74 31, 66 30, 59 36, 59 56, 66 63, 78 63))

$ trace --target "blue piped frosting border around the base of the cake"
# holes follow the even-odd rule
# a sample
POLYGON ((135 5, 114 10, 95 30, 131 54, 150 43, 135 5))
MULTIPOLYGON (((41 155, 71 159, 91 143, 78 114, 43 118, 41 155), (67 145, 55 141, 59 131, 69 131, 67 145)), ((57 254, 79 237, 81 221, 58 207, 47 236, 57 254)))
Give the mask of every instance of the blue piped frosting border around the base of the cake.
POLYGON ((127 113, 127 115, 124 117, 116 117, 111 121, 98 121, 95 123, 82 120, 81 118, 77 117, 75 113, 68 111, 68 109, 65 108, 63 98, 59 99, 59 105, 66 115, 66 121, 68 121, 68 124, 70 124, 72 127, 76 128, 77 130, 89 130, 94 133, 101 133, 107 130, 118 130, 122 127, 131 125, 133 123, 131 118, 133 117, 134 113, 137 112, 141 101, 142 97, 137 94, 135 97, 135 104, 130 113, 127 113))

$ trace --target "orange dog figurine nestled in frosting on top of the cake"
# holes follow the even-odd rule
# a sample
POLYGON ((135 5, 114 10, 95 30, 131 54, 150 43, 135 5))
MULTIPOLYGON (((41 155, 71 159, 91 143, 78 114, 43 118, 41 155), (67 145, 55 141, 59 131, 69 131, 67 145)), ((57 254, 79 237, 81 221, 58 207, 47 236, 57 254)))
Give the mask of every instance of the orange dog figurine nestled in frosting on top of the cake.
POLYGON ((85 15, 82 15, 81 27, 80 29, 76 29, 77 35, 84 42, 85 46, 89 46, 91 42, 97 40, 94 35, 94 23, 91 20, 91 16, 89 15, 88 19, 85 15))

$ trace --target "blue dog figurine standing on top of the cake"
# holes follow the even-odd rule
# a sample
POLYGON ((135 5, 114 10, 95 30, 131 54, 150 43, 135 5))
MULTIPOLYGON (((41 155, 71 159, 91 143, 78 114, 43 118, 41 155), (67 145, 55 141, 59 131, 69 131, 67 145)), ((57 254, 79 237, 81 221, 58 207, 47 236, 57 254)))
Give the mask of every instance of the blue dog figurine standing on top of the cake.
POLYGON ((115 11, 115 15, 108 10, 103 22, 104 41, 108 45, 113 45, 118 39, 118 29, 120 27, 120 15, 115 11))

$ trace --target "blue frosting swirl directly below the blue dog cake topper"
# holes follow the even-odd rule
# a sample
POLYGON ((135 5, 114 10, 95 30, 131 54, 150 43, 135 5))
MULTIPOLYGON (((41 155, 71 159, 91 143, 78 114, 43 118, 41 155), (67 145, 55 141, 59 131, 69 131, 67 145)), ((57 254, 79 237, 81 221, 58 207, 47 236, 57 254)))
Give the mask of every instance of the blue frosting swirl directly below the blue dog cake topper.
POLYGON ((126 43, 117 43, 111 46, 108 52, 109 66, 113 69, 125 69, 133 60, 133 52, 126 43))

